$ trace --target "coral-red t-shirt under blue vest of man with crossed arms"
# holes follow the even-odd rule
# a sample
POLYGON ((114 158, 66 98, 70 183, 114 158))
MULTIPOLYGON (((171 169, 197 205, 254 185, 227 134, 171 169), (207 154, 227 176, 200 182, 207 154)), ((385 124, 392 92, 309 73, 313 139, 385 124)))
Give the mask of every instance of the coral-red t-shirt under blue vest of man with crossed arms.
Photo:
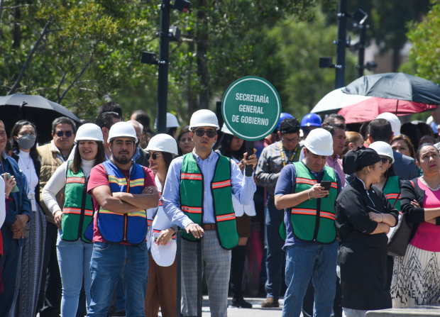
MULTIPOLYGON (((148 167, 143 167, 144 171, 145 171, 145 182, 143 183, 143 187, 148 187, 148 186, 156 186, 155 182, 154 182, 154 174, 153 172, 151 172, 151 169, 149 169, 148 167)), ((125 176, 127 178, 130 177, 130 171, 129 170, 123 170, 121 169, 121 172, 123 172, 123 174, 125 174, 125 176)), ((95 187, 99 187, 102 185, 106 185, 110 187, 110 183, 109 183, 109 179, 107 178, 107 174, 106 174, 106 169, 104 168, 104 165, 99 164, 95 167, 92 168, 92 171, 90 172, 90 178, 89 178, 89 182, 87 183, 87 192, 89 194, 92 194, 92 189, 94 189, 95 187)), ((99 208, 99 204, 98 201, 93 197, 93 208, 95 211, 98 210, 99 208)), ((94 217, 93 219, 93 242, 106 242, 106 240, 104 240, 104 238, 102 238, 101 233, 99 233, 98 230, 98 226, 97 226, 97 217, 94 217)), ((127 244, 128 243, 121 243, 121 244, 127 244)))

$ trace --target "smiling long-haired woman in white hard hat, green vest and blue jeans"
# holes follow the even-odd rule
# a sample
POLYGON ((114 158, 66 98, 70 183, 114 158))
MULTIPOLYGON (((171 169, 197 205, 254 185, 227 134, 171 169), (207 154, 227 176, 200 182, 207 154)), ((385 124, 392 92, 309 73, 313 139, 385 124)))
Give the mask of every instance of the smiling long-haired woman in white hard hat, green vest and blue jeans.
POLYGON ((43 199, 58 226, 57 258, 62 281, 61 316, 75 317, 82 281, 90 305, 90 260, 93 244, 85 235, 92 221, 92 196, 87 194, 90 171, 105 160, 104 138, 99 126, 86 123, 79 127, 73 160, 62 163, 43 189, 43 199), (61 208, 55 195, 65 187, 61 208))

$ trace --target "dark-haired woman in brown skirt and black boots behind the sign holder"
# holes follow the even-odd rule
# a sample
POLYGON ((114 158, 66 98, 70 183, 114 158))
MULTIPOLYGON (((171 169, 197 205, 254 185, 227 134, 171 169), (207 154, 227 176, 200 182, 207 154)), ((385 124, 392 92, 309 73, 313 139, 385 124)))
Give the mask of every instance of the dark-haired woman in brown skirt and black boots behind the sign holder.
MULTIPOLYGON (((238 164, 241 172, 244 172, 243 154, 246 153, 246 142, 236 137, 231 131, 223 125, 223 138, 221 138, 220 149, 221 155, 230 157, 231 160, 238 164)), ((251 237, 251 217, 255 216, 255 204, 246 206, 241 205, 238 200, 232 196, 233 210, 236 213, 236 225, 238 236, 238 246, 232 249, 231 254, 231 285, 232 285, 232 306, 252 308, 252 304, 243 299, 243 270, 246 262, 246 243, 251 237)))

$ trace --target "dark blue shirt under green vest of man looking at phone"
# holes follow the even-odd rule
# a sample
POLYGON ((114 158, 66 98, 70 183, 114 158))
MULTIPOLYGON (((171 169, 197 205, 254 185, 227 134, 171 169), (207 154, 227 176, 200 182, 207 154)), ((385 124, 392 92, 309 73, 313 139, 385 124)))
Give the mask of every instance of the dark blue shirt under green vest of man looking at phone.
MULTIPOLYGON (((322 178, 324 177, 324 171, 325 171, 325 167, 321 169, 319 173, 315 173, 313 171, 310 172, 314 174, 314 177, 317 177, 317 182, 321 182, 322 178)), ((338 180, 338 194, 339 194, 341 192, 341 178, 339 177, 339 174, 338 172, 336 172, 336 170, 334 172, 336 174, 336 179, 338 180)), ((293 164, 286 165, 283 169, 281 169, 280 177, 278 178, 278 182, 277 182, 277 187, 275 188, 275 196, 293 194, 295 191, 294 184, 296 184, 296 178, 297 178, 297 169, 295 168, 295 165, 293 164)), ((287 213, 287 211, 284 212, 284 223, 286 226, 286 240, 283 249, 285 249, 290 245, 297 245, 304 247, 308 245, 321 244, 317 241, 304 241, 304 240, 300 240, 299 238, 295 238, 295 235, 293 234, 292 223, 290 222, 290 213, 287 213)))

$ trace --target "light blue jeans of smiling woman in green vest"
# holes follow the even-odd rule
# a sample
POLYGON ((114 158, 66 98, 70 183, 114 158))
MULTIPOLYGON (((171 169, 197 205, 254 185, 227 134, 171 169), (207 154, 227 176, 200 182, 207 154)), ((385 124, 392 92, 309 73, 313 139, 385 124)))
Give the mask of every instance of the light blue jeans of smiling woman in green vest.
POLYGON ((58 230, 57 258, 62 282, 61 316, 75 317, 83 278, 87 308, 90 305, 90 259, 93 245, 82 240, 61 240, 60 234, 61 230, 58 230))

